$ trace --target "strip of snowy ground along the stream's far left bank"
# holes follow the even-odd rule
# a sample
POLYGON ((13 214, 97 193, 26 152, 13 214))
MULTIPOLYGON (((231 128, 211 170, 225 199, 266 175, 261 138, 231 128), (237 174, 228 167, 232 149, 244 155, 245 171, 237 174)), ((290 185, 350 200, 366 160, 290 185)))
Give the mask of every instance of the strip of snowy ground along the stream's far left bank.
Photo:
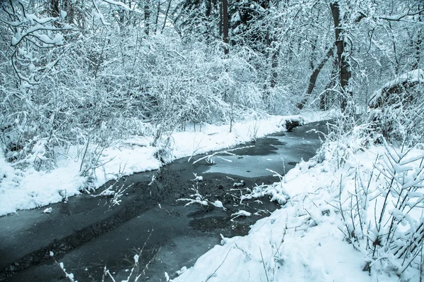
MULTIPOLYGON (((302 118, 305 123, 320 121, 334 116, 333 112, 305 112, 302 118)), ((170 138, 170 154, 172 161, 194 154, 202 154, 216 149, 232 147, 263 137, 271 133, 285 130, 285 118, 299 116, 268 116, 260 120, 235 123, 230 133, 229 125, 199 125, 187 127, 185 132, 173 133, 170 138)), ((108 180, 130 175, 141 171, 150 171, 163 166, 155 158, 158 147, 151 146, 153 136, 134 136, 112 142, 112 146, 102 151, 100 165, 95 169, 94 188, 99 188, 108 180)), ((86 185, 87 178, 81 176, 81 148, 71 148, 67 154, 59 155, 57 167, 50 170, 35 169, 37 159, 43 159, 42 143, 35 146, 30 160, 32 165, 25 168, 12 166, 5 160, 0 149, 0 216, 13 213, 19 209, 33 209, 48 204, 61 202, 66 197, 78 195, 86 185)))

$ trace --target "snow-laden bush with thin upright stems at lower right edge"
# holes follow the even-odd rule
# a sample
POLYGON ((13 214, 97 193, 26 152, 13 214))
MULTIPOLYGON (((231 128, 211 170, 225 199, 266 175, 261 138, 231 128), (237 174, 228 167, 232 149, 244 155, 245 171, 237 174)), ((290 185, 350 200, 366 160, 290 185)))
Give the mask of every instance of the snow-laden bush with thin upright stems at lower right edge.
POLYGON ((422 267, 424 155, 385 148, 374 168, 355 171, 353 187, 341 184, 341 230, 367 256, 366 270, 402 275, 422 267))

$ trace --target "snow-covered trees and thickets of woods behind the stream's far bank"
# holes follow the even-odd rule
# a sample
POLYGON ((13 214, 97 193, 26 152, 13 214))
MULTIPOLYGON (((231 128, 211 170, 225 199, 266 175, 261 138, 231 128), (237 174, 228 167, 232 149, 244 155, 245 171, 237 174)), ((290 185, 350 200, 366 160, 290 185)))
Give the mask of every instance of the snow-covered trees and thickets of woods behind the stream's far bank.
POLYGON ((35 139, 105 128, 366 105, 421 68, 422 14, 419 1, 2 1, 2 144, 21 159, 35 139))

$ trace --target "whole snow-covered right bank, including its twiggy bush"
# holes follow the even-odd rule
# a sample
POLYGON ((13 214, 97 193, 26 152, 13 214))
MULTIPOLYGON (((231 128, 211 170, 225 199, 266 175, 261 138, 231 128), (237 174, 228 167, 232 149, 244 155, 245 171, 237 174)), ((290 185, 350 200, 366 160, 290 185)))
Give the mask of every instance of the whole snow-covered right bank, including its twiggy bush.
MULTIPOLYGON (((257 221, 249 235, 223 238, 173 281, 422 281, 419 256, 399 259, 396 250, 413 246, 408 240, 412 233, 415 238, 423 234, 424 149, 401 153, 401 148, 365 148, 359 140, 351 135, 326 143, 314 159, 298 164, 281 182, 252 190, 246 197, 268 195, 286 203, 257 221), (393 164, 389 152, 401 159, 399 164, 393 164), (391 174, 399 185, 391 183, 391 174), (389 183, 391 193, 384 189, 389 183), (395 191, 401 190, 413 207, 409 211, 394 207, 400 204, 395 191), (381 212, 384 199, 387 205, 381 212), (396 217, 391 232, 390 216, 396 217), (389 245, 387 233, 394 234, 389 245)), ((423 241, 417 241, 422 252, 423 241)))

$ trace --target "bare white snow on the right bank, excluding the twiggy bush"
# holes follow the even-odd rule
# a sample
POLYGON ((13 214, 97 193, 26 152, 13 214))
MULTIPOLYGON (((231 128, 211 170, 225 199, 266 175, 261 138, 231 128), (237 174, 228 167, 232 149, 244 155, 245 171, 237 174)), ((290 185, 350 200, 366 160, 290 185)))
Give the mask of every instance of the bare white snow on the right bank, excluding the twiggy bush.
MULTIPOLYGON (((276 194, 289 194, 290 200, 271 216, 257 221, 248 235, 223 238, 221 245, 206 252, 172 281, 419 281, 417 269, 407 269, 399 277, 384 259, 375 263, 370 274, 363 271, 366 262, 370 262, 369 253, 355 250, 341 232, 341 187, 343 202, 354 192, 355 171, 367 181, 376 157, 385 152, 382 146, 365 150, 353 147, 355 144, 349 142, 324 147, 317 157, 290 170, 284 181, 264 188, 265 195, 277 201, 276 194), (340 147, 348 155, 346 164, 338 167, 334 159, 340 147)), ((409 159, 423 157, 423 153, 424 149, 412 149, 409 159)), ((418 168, 419 163, 415 161, 411 167, 418 168)), ((370 190, 375 191, 384 180, 379 183, 372 177, 370 190)), ((379 212, 376 199, 370 200, 367 209, 370 222, 375 209, 379 212)), ((419 213, 411 216, 418 223, 424 219, 419 213)))

